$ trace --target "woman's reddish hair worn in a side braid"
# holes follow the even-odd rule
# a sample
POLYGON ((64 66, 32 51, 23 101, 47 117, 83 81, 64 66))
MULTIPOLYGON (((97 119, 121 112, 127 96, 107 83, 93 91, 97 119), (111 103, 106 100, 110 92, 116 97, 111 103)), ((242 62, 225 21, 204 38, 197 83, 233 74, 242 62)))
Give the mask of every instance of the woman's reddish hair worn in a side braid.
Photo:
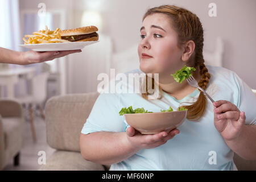
MULTIPOLYGON (((148 9, 143 16, 143 20, 151 14, 162 13, 166 14, 170 20, 172 28, 177 32, 178 43, 177 46, 181 47, 188 40, 192 40, 195 43, 195 57, 189 63, 193 67, 199 66, 201 80, 199 81, 199 86, 203 89, 207 88, 210 79, 210 73, 204 64, 203 57, 203 46, 204 46, 204 32, 202 24, 199 18, 181 7, 163 5, 159 7, 154 7, 148 9)), ((143 21, 142 20, 142 21, 143 21)), ((154 89, 154 78, 152 78, 152 89, 154 89)), ((146 75, 146 93, 142 93, 142 97, 148 99, 148 85, 147 85, 147 75, 146 75)), ((160 93, 163 90, 159 87, 160 93)), ((162 96, 160 96, 161 98, 162 96)), ((184 102, 183 102, 184 103, 184 102)), ((186 102, 190 103, 190 102, 186 102)), ((192 105, 183 106, 185 109, 188 109, 187 119, 191 121, 196 121, 200 119, 205 113, 207 107, 207 99, 205 98, 203 92, 200 90, 200 95, 197 98, 196 102, 191 103, 192 105)), ((181 106, 180 106, 181 107, 181 106)))

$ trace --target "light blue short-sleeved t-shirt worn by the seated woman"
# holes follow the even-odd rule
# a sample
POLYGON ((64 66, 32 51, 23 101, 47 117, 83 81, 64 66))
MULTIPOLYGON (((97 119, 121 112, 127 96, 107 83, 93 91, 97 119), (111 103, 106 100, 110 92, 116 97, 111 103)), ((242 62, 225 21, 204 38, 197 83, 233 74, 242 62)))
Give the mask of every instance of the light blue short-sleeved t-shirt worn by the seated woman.
MULTIPOLYGON (((211 77, 206 92, 214 101, 232 102, 240 111, 245 111, 246 125, 255 125, 256 97, 249 86, 233 71, 210 65, 207 68, 211 77)), ((135 69, 127 73, 143 72, 135 69)), ((195 102, 199 94, 196 89, 182 100, 176 100, 164 92, 160 99, 145 100, 140 93, 101 93, 81 133, 125 132, 129 125, 124 116, 119 115, 122 107, 144 107, 145 110, 159 112, 171 106, 177 110, 181 102, 195 102)), ((110 170, 236 170, 234 152, 214 126, 213 109, 212 102, 207 100, 205 114, 199 121, 186 119, 177 128, 180 133, 167 143, 141 150, 122 162, 112 164, 110 170)))

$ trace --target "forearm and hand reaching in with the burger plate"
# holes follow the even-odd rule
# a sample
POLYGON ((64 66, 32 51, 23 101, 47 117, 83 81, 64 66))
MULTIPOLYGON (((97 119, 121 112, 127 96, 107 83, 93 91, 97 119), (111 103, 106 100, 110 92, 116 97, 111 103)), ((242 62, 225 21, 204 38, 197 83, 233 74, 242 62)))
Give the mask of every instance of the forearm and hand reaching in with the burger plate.
POLYGON ((48 51, 48 52, 18 52, 0 47, 0 63, 27 65, 33 63, 42 63, 56 59, 58 57, 67 56, 70 53, 81 52, 81 50, 72 51, 48 51))

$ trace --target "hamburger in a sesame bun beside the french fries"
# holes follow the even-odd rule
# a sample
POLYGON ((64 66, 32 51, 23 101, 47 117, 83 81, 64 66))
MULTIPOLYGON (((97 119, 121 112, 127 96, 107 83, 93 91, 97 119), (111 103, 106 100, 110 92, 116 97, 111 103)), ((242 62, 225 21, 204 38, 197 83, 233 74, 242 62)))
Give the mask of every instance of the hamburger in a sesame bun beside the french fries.
POLYGON ((84 42, 84 41, 97 41, 98 40, 98 28, 96 26, 80 27, 68 30, 61 30, 61 39, 68 40, 70 42, 84 42))

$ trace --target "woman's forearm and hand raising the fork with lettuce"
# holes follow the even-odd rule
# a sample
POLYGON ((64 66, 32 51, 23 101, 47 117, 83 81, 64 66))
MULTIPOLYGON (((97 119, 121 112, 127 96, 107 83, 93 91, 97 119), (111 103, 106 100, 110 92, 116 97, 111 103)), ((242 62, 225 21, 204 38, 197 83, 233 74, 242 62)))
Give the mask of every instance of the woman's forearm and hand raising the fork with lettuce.
POLYGON ((216 101, 214 125, 226 144, 246 160, 256 160, 256 126, 245 125, 245 112, 229 101, 216 101))

